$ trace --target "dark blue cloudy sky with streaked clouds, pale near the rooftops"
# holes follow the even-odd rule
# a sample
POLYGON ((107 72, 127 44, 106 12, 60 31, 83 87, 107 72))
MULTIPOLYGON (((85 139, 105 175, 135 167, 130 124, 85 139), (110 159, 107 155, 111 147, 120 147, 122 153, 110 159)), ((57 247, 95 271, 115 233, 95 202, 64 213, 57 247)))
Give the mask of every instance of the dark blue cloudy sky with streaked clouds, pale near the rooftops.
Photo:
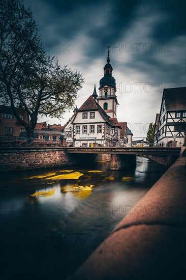
MULTIPOLYGON (((107 49, 116 79, 118 121, 146 136, 160 112, 164 88, 185 87, 185 3, 174 1, 24 0, 48 54, 85 78, 77 107, 103 76, 107 49)), ((62 125, 64 119, 39 118, 62 125)))

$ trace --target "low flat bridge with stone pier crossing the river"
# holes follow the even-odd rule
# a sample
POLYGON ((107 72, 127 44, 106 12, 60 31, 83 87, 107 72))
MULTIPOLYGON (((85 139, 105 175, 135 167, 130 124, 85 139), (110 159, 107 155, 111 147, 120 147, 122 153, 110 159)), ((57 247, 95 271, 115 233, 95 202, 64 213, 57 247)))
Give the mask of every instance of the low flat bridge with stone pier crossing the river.
POLYGON ((158 162, 171 165, 179 156, 180 147, 71 147, 67 154, 111 154, 110 169, 135 166, 136 155, 147 155, 158 162))

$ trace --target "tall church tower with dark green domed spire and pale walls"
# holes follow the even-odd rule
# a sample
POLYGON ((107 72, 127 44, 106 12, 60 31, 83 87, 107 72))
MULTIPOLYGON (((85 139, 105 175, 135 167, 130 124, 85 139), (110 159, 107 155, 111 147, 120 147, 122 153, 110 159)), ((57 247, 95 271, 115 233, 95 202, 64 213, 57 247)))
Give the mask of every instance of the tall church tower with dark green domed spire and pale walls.
POLYGON ((112 66, 110 64, 110 47, 108 46, 107 64, 104 67, 104 76, 100 80, 100 96, 97 97, 99 105, 111 117, 116 118, 117 97, 115 79, 112 77, 112 66))

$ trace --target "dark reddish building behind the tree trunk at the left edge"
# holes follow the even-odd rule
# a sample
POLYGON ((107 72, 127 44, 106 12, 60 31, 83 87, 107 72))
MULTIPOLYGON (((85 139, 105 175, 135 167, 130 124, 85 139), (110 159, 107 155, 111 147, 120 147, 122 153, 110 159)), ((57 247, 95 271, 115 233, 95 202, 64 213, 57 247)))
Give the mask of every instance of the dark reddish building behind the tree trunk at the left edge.
MULTIPOLYGON (((28 123, 26 111, 22 108, 16 108, 19 117, 28 123)), ((10 106, 0 105, 0 135, 18 137, 24 132, 24 126, 16 119, 10 106)))

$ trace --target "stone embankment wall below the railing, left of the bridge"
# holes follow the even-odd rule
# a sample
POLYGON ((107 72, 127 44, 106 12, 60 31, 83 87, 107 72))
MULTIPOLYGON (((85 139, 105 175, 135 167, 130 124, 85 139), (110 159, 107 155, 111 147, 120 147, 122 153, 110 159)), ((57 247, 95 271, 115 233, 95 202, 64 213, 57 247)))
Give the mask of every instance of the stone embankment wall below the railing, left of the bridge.
POLYGON ((9 147, 0 148, 0 172, 41 169, 75 164, 65 148, 9 147))

